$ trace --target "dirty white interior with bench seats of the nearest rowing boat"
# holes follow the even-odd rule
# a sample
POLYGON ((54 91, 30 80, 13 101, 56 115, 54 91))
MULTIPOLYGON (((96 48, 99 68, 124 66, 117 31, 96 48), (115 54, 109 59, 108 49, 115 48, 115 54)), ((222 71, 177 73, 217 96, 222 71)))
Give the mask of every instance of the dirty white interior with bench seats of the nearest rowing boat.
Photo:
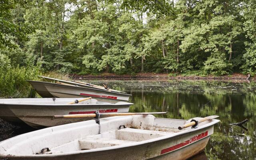
MULTIPOLYGON (((152 115, 118 116, 45 128, 0 143, 6 155, 62 154, 135 144, 175 134, 186 120, 155 118, 152 115), (5 144, 6 143, 6 144, 5 144), (15 144, 15 145, 10 145, 15 144), (23 150, 22 148, 26 148, 23 150)), ((204 125, 207 122, 202 122, 204 125)))

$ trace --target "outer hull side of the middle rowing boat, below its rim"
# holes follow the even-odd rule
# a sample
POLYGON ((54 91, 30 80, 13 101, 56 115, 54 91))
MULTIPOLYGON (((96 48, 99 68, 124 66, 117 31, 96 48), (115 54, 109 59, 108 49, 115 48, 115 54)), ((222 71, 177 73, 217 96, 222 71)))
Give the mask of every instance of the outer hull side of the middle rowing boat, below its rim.
MULTIPOLYGON (((51 99, 51 98, 50 98, 51 99)), ((0 104, 0 118, 18 126, 45 128, 92 120, 93 118, 53 118, 54 115, 88 114, 94 112, 128 112, 131 103, 85 105, 0 104)))

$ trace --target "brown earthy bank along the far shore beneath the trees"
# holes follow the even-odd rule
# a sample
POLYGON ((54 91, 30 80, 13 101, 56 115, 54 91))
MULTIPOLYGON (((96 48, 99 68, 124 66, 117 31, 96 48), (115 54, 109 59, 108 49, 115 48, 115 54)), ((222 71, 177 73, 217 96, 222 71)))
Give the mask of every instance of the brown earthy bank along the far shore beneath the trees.
MULTIPOLYGON (((234 81, 234 82, 248 82, 246 78, 247 75, 243 74, 232 74, 228 76, 169 76, 169 74, 154 74, 154 73, 138 73, 134 76, 130 74, 112 74, 105 73, 99 75, 78 75, 78 74, 69 74, 72 78, 76 80, 210 80, 210 81, 234 81)), ((254 81, 255 78, 251 77, 250 81, 254 81)))

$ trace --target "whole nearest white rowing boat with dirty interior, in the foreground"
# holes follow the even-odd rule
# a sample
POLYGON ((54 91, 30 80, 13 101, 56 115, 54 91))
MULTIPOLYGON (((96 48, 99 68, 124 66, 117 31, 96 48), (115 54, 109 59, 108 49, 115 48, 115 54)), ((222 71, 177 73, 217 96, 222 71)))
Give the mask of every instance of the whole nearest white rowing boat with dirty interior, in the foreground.
POLYGON ((177 120, 152 115, 102 118, 100 124, 89 120, 2 141, 0 157, 10 160, 185 160, 204 150, 218 122, 210 118, 177 120), (194 124, 192 128, 187 127, 190 122, 194 124))

